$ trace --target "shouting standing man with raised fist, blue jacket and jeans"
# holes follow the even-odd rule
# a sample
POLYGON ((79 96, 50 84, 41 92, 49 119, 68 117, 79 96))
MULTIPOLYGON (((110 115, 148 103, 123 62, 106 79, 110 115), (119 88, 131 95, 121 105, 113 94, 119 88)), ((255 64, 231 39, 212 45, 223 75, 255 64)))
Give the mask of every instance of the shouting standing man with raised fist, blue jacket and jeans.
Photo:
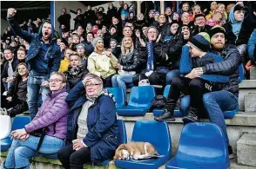
POLYGON ((14 16, 17 10, 10 8, 7 11, 7 20, 11 29, 30 43, 30 49, 26 57, 26 64, 30 71, 28 80, 28 105, 31 120, 35 117, 38 110, 39 91, 41 89, 42 100, 51 93, 49 90, 48 79, 52 72, 57 72, 60 61, 61 52, 57 43, 52 41, 54 37, 54 28, 51 23, 45 21, 42 23, 38 34, 30 34, 21 29, 15 21, 14 16))

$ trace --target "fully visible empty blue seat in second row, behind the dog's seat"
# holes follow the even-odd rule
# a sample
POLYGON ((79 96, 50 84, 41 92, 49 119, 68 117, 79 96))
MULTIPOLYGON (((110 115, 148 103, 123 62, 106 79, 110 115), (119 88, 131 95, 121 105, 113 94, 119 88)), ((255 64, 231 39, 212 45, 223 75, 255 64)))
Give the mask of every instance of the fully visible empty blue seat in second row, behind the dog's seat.
POLYGON ((120 116, 144 116, 155 96, 152 86, 132 87, 127 107, 117 108, 120 116))

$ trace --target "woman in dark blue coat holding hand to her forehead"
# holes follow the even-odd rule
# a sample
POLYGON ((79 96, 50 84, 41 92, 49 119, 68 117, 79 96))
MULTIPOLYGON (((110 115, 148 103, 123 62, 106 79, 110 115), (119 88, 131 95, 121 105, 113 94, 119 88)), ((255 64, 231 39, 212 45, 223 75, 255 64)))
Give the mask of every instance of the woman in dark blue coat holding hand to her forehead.
POLYGON ((71 107, 66 145, 58 152, 65 169, 83 169, 112 159, 118 147, 118 120, 111 96, 98 75, 87 74, 66 98, 71 107))

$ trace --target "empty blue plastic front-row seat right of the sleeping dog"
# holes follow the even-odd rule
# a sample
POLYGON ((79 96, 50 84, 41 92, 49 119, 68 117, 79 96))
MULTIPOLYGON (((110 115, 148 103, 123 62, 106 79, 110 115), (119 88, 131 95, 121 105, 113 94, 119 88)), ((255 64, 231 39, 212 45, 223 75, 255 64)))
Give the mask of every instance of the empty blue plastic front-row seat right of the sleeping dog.
POLYGON ((190 123, 183 128, 176 155, 166 169, 226 169, 230 166, 226 139, 212 123, 190 123))

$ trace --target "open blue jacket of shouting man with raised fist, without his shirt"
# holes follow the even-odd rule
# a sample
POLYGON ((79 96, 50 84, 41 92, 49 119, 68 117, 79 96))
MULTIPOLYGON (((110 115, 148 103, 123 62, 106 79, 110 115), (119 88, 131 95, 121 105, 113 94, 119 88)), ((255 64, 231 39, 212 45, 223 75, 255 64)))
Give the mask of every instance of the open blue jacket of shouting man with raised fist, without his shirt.
MULTIPOLYGON (((30 43, 30 49, 28 50, 28 54, 26 57, 26 63, 28 66, 28 69, 31 68, 31 59, 34 57, 38 57, 40 54, 40 51, 42 49, 42 27, 44 23, 41 25, 38 34, 30 34, 29 32, 21 29, 19 27, 19 24, 17 21, 15 21, 13 18, 7 18, 7 21, 10 23, 11 29, 17 34, 17 36, 20 36, 23 38, 26 42, 30 43)), ((46 57, 49 58, 48 61, 48 75, 51 75, 52 72, 57 72, 60 61, 61 61, 61 51, 59 47, 57 46, 57 43, 52 41, 54 37, 54 28, 51 24, 51 41, 50 41, 50 47, 48 49, 48 52, 46 52, 46 57)), ((41 64, 44 64, 43 62, 41 64)), ((42 65, 43 66, 43 65, 42 65)), ((37 70, 36 70, 37 72, 37 70)))

